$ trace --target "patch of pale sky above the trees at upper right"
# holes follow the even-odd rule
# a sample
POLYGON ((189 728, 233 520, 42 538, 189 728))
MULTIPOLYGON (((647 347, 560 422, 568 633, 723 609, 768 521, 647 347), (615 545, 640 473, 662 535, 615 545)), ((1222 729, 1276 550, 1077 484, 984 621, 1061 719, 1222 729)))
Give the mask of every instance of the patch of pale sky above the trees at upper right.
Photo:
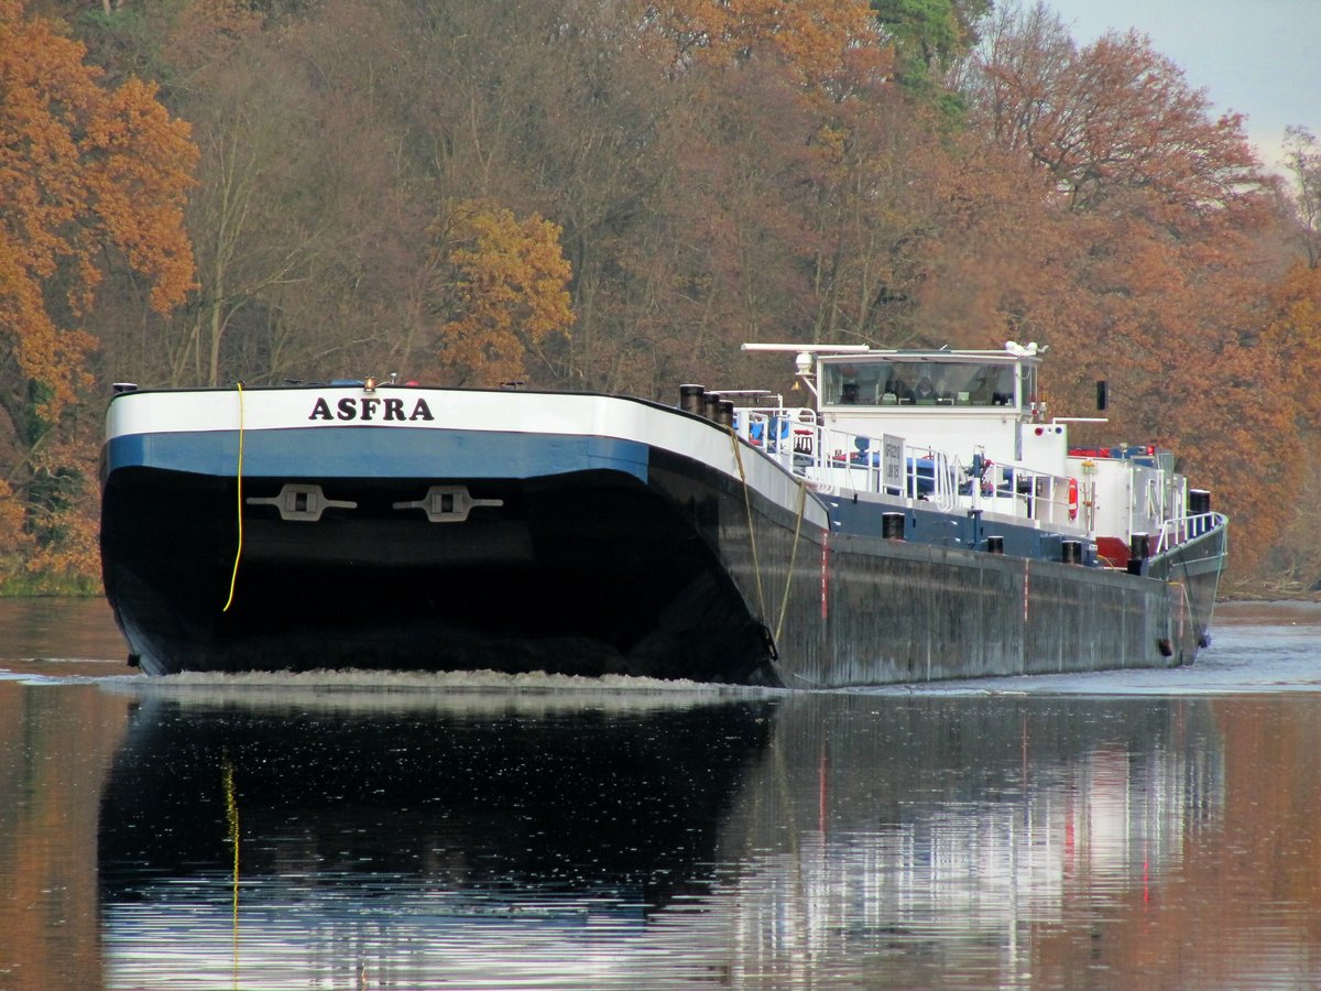
MULTIPOLYGON (((1206 90, 1217 114, 1247 116, 1262 164, 1279 172, 1284 128, 1321 137, 1321 0, 1045 0, 1079 45, 1136 29, 1206 90)), ((1026 5, 1026 4, 1025 4, 1026 5)))

